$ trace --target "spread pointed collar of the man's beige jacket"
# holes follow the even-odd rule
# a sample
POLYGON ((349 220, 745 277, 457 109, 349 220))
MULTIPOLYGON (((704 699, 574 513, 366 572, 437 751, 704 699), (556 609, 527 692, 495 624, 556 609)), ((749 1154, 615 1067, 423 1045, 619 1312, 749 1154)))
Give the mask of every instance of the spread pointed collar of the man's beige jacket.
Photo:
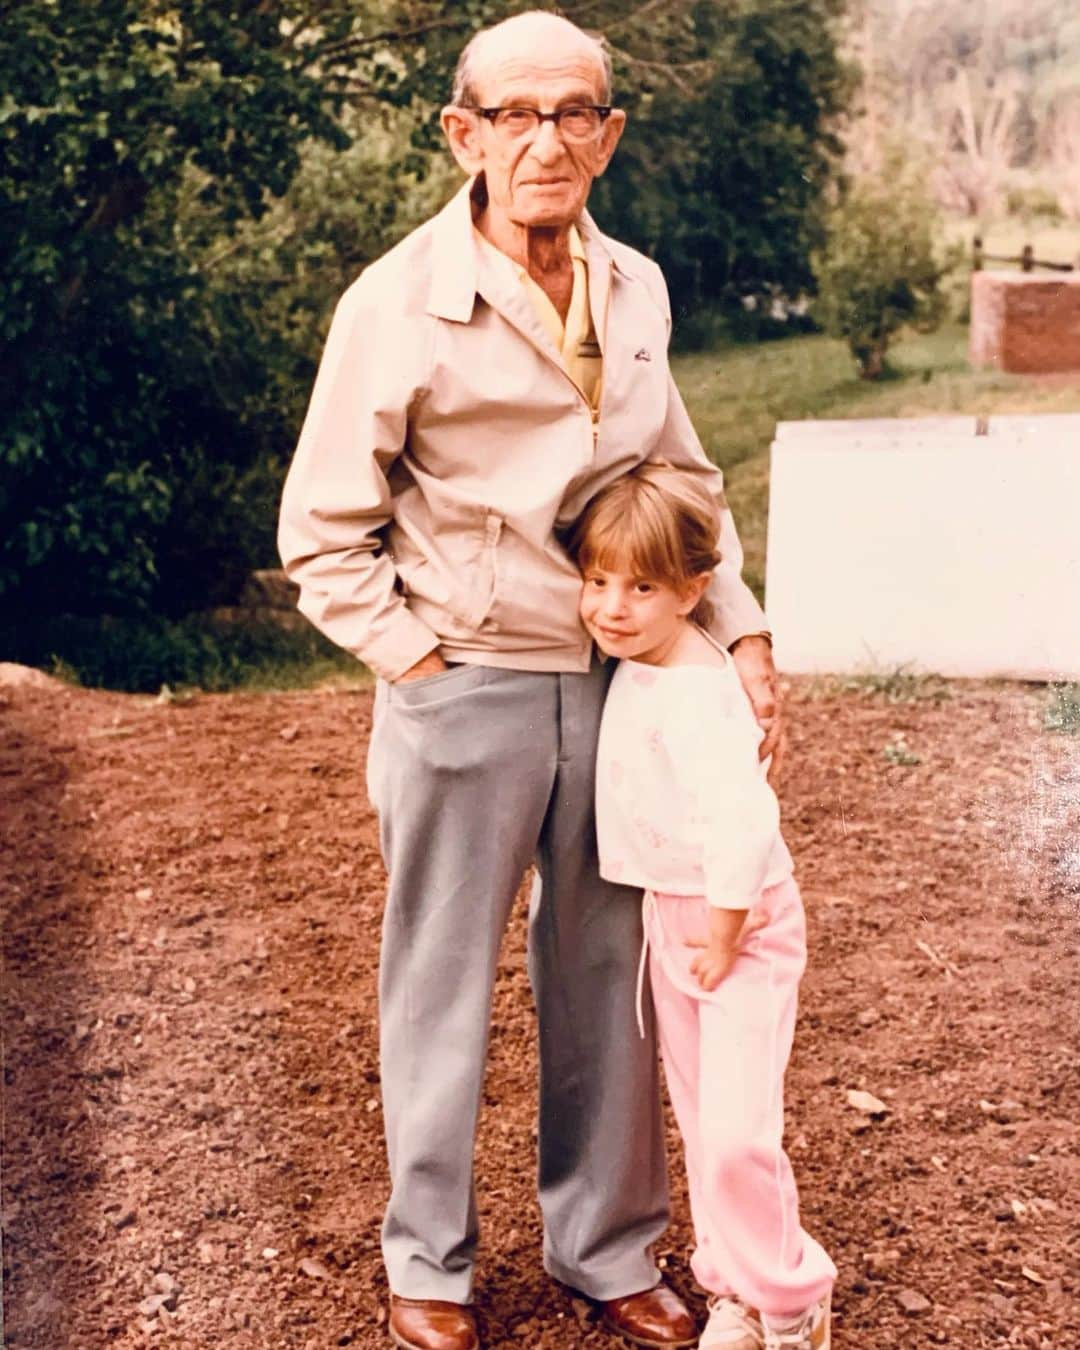
MULTIPOLYGON (((482 200, 483 182, 470 178, 432 220, 432 277, 428 290, 428 313, 436 319, 467 324, 473 317, 477 294, 482 294, 497 308, 505 290, 504 278, 491 275, 483 250, 477 246, 473 232, 473 202, 482 200)), ((612 270, 626 275, 608 250, 595 221, 583 211, 578 232, 589 261, 589 293, 597 332, 602 331, 606 296, 612 270)), ((514 309, 518 306, 514 305, 514 309)))

